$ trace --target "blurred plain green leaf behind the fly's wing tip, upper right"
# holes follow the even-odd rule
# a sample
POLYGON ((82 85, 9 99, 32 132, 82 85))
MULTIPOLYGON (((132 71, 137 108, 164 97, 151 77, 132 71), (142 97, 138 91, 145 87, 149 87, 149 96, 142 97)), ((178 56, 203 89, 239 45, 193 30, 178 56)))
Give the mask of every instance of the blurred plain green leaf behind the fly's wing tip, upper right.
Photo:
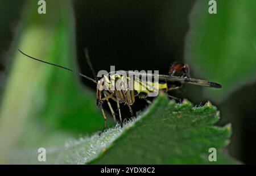
POLYGON ((185 60, 200 78, 221 83, 205 89, 210 99, 223 100, 256 78, 256 1, 217 1, 209 14, 208 1, 197 1, 190 15, 185 60))

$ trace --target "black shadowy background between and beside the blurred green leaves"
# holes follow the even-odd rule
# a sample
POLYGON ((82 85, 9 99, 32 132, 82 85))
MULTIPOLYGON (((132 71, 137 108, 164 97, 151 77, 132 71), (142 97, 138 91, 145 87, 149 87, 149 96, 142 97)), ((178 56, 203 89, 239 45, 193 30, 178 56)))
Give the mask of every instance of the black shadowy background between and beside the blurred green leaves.
MULTIPOLYGON (((85 62, 84 48, 87 47, 96 72, 115 65, 116 70, 159 70, 166 74, 172 62, 183 61, 188 16, 194 3, 187 0, 75 1, 77 60, 81 72, 93 77, 85 62)), ((23 5, 24 1, 0 1, 1 77, 5 77, 9 61, 4 58, 23 5)), ((93 83, 82 78, 81 81, 95 89, 93 83)), ((255 88, 254 83, 234 92, 224 102, 213 102, 221 112, 218 125, 229 122, 233 125, 229 153, 245 164, 256 163, 255 88), (230 116, 227 110, 236 116, 230 116)), ((186 86, 174 95, 195 104, 207 101, 201 87, 186 86)), ((133 109, 139 111, 145 106, 144 100, 138 100, 133 109)), ((121 108, 124 116, 129 116, 127 108, 121 108)))

